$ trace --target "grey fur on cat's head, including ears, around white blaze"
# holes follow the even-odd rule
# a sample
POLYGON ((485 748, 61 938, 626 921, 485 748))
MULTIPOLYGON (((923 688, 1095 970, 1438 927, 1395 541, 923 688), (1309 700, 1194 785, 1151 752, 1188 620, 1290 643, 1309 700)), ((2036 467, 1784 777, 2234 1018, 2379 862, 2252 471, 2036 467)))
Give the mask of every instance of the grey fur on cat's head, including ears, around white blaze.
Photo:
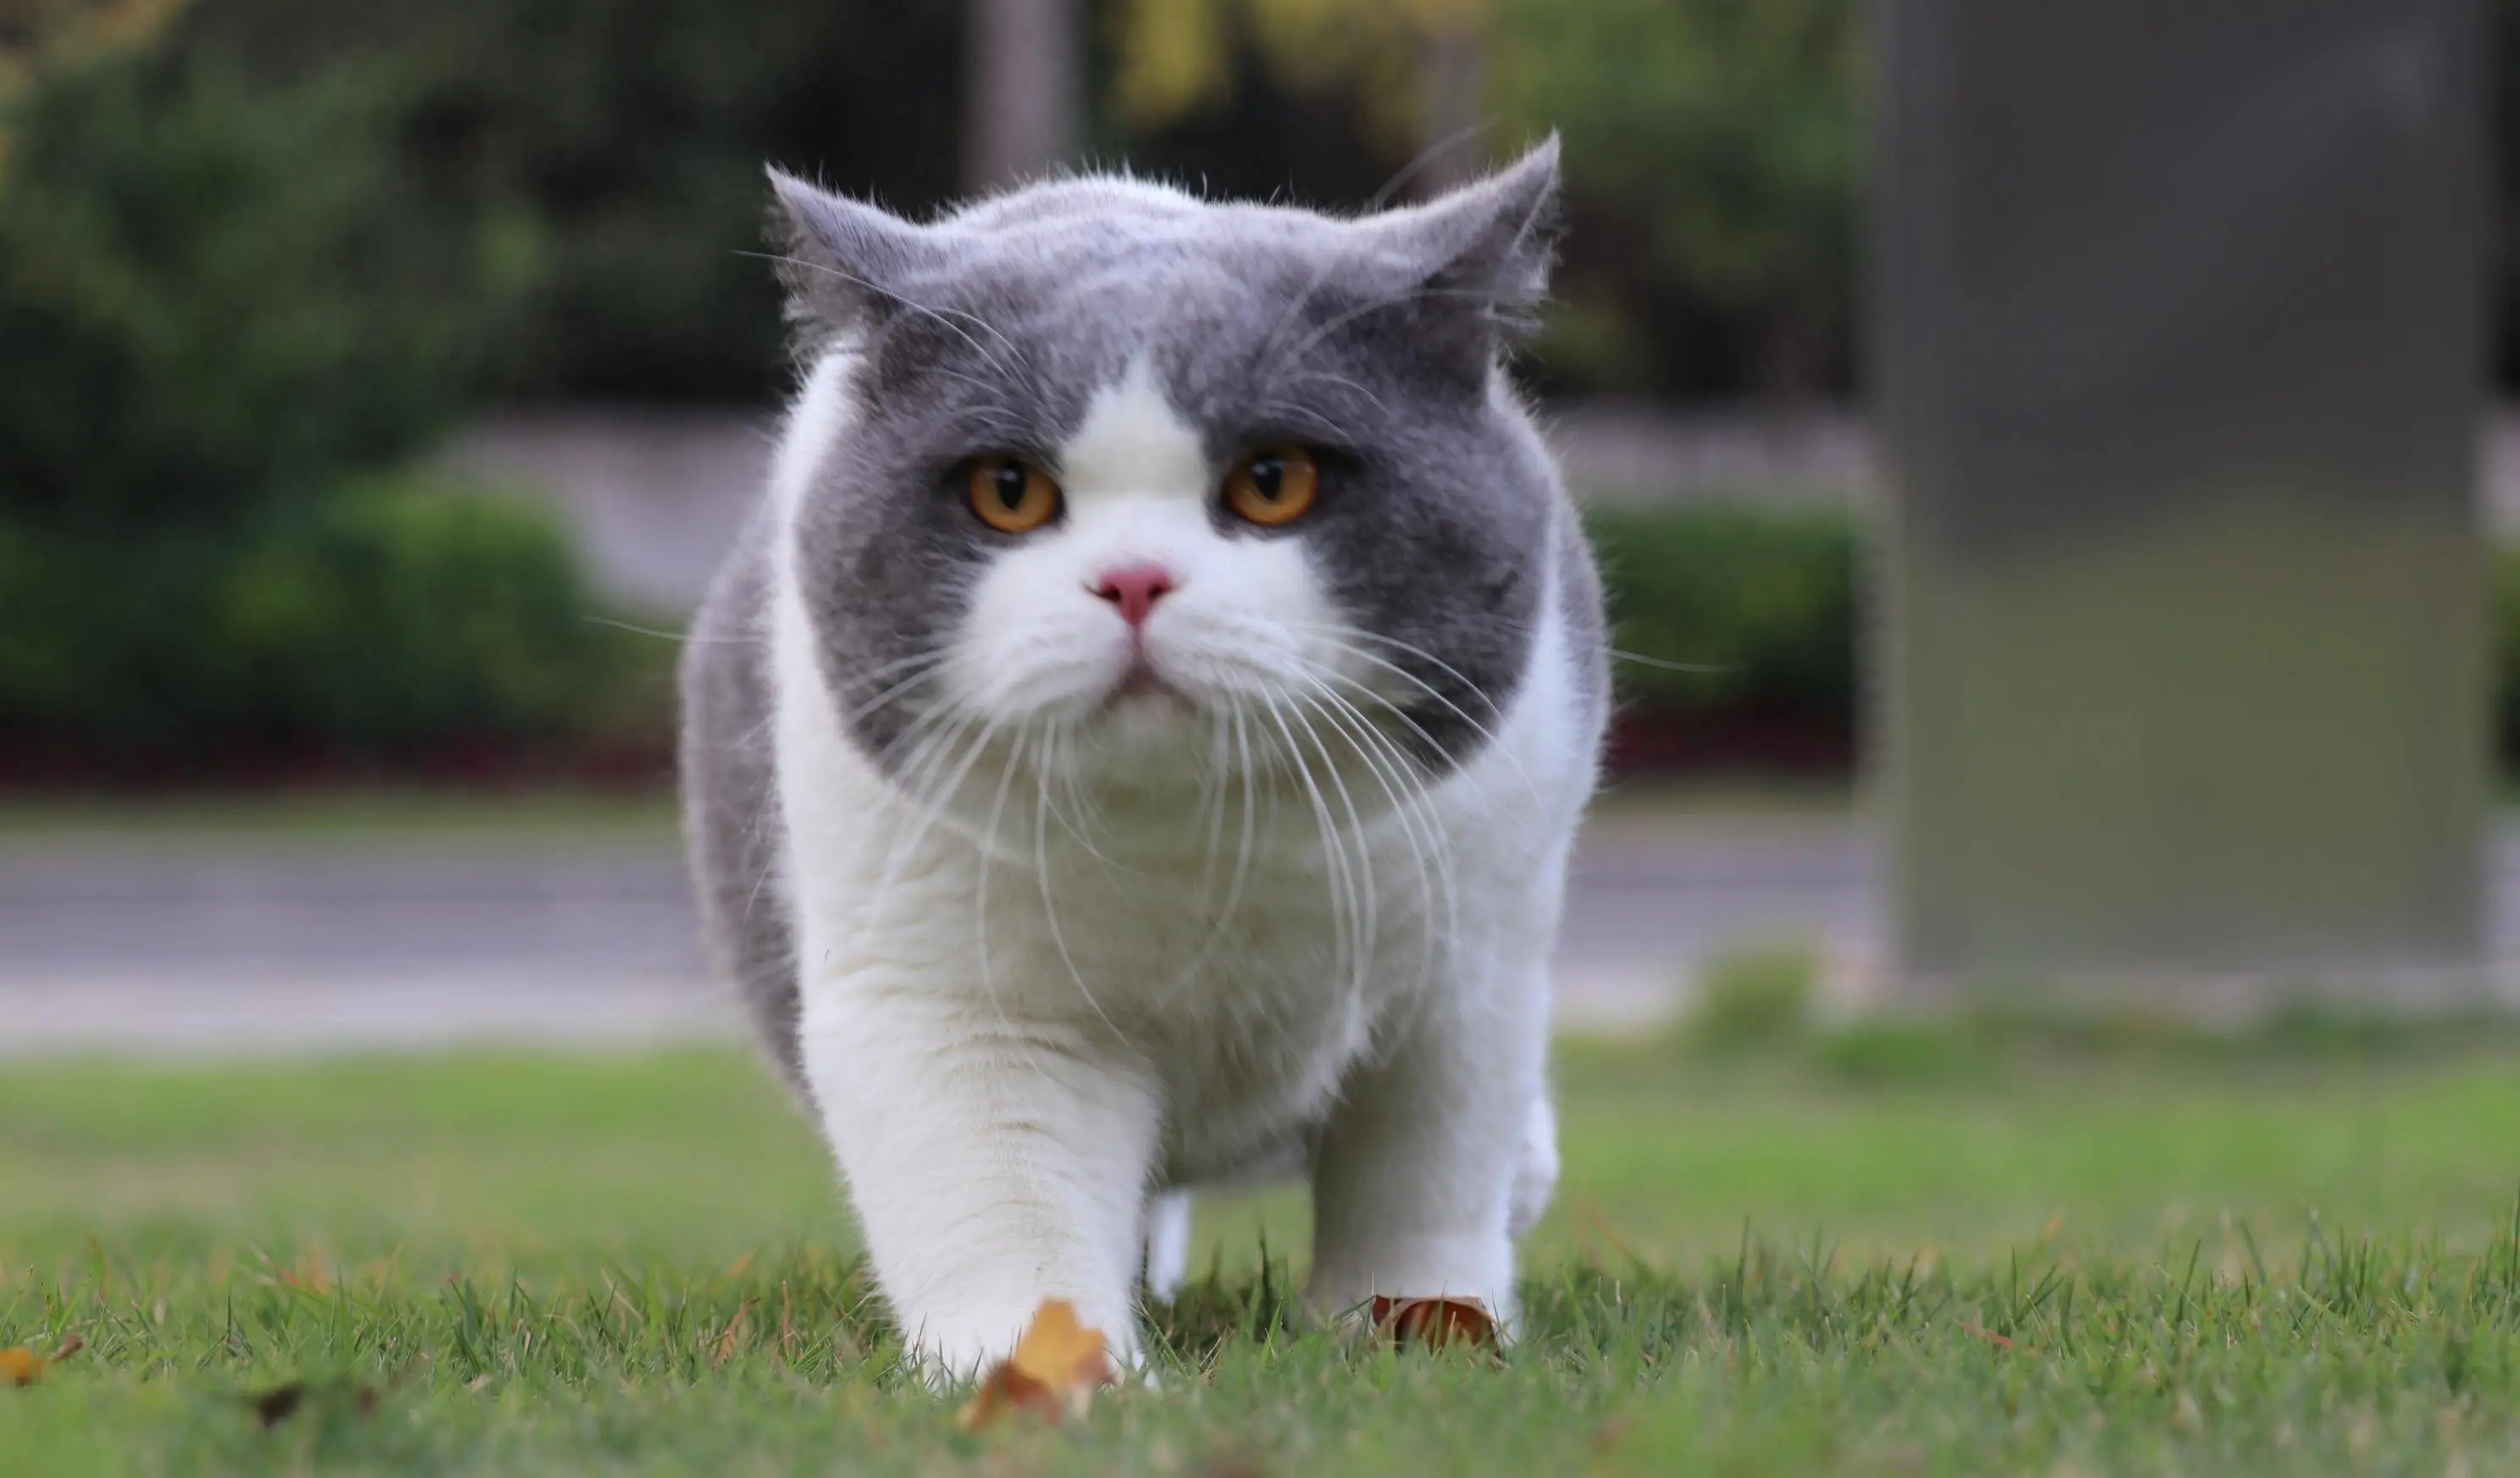
POLYGON ((920 695, 864 708, 950 640, 1011 541, 970 516, 973 456, 1051 463, 1094 393, 1152 365, 1222 476, 1300 443, 1298 539, 1356 645, 1409 675, 1394 738, 1477 748, 1522 680, 1560 541, 1555 473, 1499 383, 1547 290, 1557 141, 1363 219, 1207 204, 1126 179, 1036 184, 912 224, 774 174, 804 353, 847 355, 857 415, 799 509, 804 597, 857 743, 897 763, 920 695))

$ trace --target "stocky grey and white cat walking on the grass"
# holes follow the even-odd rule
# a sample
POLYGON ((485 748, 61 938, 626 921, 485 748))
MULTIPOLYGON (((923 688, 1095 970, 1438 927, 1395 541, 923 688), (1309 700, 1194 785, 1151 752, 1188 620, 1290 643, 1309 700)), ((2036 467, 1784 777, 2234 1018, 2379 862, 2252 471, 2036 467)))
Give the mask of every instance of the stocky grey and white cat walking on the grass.
POLYGON ((804 388, 701 612, 716 964, 930 1375, 1137 1357, 1187 1191, 1308 1173, 1308 1302, 1512 1317, 1600 592, 1502 370, 1557 146, 1333 219, 774 176, 804 388))

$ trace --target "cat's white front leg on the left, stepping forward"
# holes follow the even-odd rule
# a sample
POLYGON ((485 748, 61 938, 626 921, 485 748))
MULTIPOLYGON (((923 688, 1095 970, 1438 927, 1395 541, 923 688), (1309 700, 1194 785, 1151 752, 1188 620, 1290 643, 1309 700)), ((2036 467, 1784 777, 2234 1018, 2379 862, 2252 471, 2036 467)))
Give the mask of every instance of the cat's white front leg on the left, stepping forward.
POLYGON ((930 1380, 1005 1357, 1043 1299, 1137 1360, 1157 1133, 1142 1073, 905 982, 809 992, 801 1035, 877 1284, 930 1380))

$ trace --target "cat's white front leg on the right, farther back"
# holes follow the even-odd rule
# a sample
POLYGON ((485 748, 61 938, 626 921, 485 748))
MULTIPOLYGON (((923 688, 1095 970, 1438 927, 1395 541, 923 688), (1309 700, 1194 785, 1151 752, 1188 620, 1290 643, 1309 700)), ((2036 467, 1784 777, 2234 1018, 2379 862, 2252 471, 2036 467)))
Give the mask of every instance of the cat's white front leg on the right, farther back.
POLYGON ((1441 1000, 1363 1070, 1313 1163, 1315 1317, 1376 1294, 1479 1299, 1515 1319, 1515 1191, 1545 1093, 1547 987, 1441 1000))

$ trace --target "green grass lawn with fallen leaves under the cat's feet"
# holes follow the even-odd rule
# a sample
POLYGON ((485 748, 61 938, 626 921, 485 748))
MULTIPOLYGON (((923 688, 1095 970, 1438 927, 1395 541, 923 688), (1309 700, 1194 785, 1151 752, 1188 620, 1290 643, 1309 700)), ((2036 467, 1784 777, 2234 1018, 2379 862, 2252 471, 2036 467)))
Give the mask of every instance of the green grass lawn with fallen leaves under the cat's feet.
POLYGON ((86 1350, 0 1473, 2520 1468, 2507 1045, 1908 1047, 1572 1047, 1502 1370, 1303 1329, 1257 1196, 1162 1390, 978 1438, 733 1052, 8 1065, 0 1345, 86 1350))

